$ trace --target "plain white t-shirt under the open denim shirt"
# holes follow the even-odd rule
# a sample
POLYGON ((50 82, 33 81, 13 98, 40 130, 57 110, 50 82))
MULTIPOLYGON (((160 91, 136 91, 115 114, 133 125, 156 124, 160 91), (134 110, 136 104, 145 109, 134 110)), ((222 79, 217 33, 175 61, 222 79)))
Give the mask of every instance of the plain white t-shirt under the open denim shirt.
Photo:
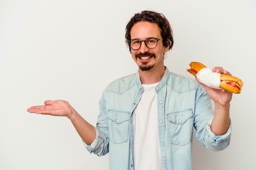
POLYGON ((158 84, 142 85, 144 92, 135 108, 134 170, 161 169, 155 92, 158 84))

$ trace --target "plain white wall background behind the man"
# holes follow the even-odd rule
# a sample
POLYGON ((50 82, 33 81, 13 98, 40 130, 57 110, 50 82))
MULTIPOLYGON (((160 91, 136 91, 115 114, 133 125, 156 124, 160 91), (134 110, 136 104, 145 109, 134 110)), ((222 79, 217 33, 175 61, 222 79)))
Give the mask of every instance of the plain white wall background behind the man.
POLYGON ((213 152, 194 138, 193 170, 255 170, 255 9, 254 0, 0 0, 0 169, 108 170, 108 155, 89 154, 67 118, 26 110, 67 100, 96 125, 106 85, 137 71, 127 22, 154 10, 173 27, 171 72, 194 78, 186 68, 199 61, 244 82, 230 146, 213 152))

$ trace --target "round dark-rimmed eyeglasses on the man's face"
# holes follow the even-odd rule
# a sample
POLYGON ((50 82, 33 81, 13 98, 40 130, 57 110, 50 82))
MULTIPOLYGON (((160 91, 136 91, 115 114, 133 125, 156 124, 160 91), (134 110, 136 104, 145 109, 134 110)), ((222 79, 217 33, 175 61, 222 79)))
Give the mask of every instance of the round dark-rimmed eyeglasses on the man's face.
POLYGON ((132 48, 132 50, 138 50, 141 46, 141 41, 144 41, 146 47, 151 49, 155 48, 157 46, 157 42, 162 39, 156 39, 154 37, 150 37, 145 40, 132 39, 130 41, 130 47, 132 48))

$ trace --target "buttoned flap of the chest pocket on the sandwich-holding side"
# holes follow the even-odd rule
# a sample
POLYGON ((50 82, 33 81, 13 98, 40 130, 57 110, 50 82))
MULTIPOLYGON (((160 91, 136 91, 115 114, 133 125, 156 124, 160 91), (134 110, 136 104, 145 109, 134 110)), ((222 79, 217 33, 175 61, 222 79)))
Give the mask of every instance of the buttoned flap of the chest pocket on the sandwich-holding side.
POLYGON ((175 124, 183 124, 191 117, 193 117, 192 109, 167 114, 168 121, 175 124))

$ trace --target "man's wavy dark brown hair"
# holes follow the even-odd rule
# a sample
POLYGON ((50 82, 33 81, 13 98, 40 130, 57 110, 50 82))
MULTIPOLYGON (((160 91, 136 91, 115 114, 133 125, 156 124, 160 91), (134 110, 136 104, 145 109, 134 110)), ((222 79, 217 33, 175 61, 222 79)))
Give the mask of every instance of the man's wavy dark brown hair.
POLYGON ((130 53, 131 53, 130 32, 131 32, 132 26, 134 26, 134 24, 136 24, 137 22, 144 22, 144 21, 156 23, 159 26, 161 30, 161 36, 163 38, 163 44, 165 47, 169 45, 168 50, 170 50, 173 47, 173 30, 171 28, 170 23, 166 19, 166 17, 162 13, 157 13, 154 11, 142 11, 141 13, 136 13, 126 25, 125 38, 126 38, 126 44, 129 46, 130 53), (170 44, 168 44, 168 41, 170 44))

